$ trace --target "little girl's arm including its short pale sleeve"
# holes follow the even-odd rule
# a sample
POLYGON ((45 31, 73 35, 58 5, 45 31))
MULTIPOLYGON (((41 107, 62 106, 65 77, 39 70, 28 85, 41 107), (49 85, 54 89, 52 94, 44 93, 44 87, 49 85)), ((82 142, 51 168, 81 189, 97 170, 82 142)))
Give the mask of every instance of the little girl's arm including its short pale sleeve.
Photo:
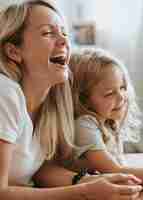
POLYGON ((76 142, 81 152, 76 165, 97 170, 101 173, 129 173, 143 180, 143 168, 129 168, 119 164, 104 144, 102 133, 89 118, 83 117, 76 123, 76 142), (94 145, 94 147, 93 147, 94 145), (92 148, 93 147, 93 148, 92 148))

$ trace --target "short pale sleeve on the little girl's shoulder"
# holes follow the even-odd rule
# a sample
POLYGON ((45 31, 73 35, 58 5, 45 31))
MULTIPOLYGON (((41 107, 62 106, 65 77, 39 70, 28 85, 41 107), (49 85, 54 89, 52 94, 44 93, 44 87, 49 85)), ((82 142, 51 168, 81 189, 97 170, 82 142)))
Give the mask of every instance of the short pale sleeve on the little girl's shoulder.
POLYGON ((75 143, 79 147, 76 157, 81 157, 88 150, 105 150, 102 133, 95 121, 83 116, 75 121, 75 143))

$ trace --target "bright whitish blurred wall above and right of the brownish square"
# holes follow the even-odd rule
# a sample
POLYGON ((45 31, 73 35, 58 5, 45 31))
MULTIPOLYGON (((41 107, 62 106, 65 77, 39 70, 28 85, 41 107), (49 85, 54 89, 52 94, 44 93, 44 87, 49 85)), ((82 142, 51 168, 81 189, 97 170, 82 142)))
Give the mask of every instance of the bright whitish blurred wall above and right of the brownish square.
POLYGON ((72 3, 68 0, 59 1, 63 5, 68 2, 66 12, 70 24, 78 19, 96 21, 97 45, 109 49, 123 60, 130 71, 137 94, 142 99, 142 0, 74 0, 72 3))

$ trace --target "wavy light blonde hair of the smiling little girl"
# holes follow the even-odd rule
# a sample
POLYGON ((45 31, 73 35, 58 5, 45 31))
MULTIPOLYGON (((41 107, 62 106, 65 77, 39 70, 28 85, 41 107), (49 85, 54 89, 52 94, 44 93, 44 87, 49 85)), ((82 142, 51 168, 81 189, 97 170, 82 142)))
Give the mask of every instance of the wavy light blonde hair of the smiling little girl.
MULTIPOLYGON (((88 97, 91 88, 100 81, 101 70, 108 66, 118 67, 124 76, 128 93, 128 111, 120 129, 121 137, 124 140, 138 141, 140 138, 141 113, 137 105, 136 94, 129 78, 129 74, 123 63, 103 49, 85 50, 73 53, 70 59, 70 69, 73 72, 74 82, 72 94, 74 102, 75 118, 81 115, 90 115, 96 118, 95 122, 103 131, 104 140, 108 139, 104 127, 101 127, 100 118, 89 106, 88 97)), ((114 123, 109 121, 114 127, 114 123)))

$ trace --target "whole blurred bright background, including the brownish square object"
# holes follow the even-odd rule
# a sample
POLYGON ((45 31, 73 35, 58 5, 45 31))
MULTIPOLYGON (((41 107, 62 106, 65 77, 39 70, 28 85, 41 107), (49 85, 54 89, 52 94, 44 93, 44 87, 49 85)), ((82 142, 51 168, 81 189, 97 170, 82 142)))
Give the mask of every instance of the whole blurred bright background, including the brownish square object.
MULTIPOLYGON (((0 0, 0 6, 10 1, 0 0)), ((143 108, 143 1, 55 0, 69 29, 72 50, 110 50, 127 66, 143 108)))

